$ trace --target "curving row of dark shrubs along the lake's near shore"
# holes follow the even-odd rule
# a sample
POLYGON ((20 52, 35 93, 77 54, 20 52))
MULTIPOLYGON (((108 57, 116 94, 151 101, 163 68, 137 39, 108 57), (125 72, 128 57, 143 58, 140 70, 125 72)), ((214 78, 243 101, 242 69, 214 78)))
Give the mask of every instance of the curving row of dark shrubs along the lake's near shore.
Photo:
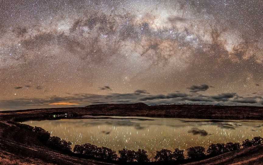
MULTIPOLYGON (((86 159, 96 159, 96 160, 105 160, 108 162, 120 162, 120 163, 145 163, 149 162, 147 151, 143 149, 138 149, 138 151, 122 149, 116 154, 116 151, 113 151, 107 147, 97 147, 90 143, 85 143, 82 145, 75 145, 73 152, 71 149, 71 142, 67 142, 64 139, 61 139, 57 136, 50 135, 49 132, 40 127, 32 127, 30 125, 21 124, 15 121, 8 121, 9 124, 16 125, 19 128, 27 129, 36 133, 37 138, 45 146, 57 150, 64 154, 72 154, 77 157, 86 158, 86 159)), ((185 160, 189 161, 198 161, 203 160, 208 157, 214 157, 221 155, 223 153, 239 150, 242 148, 247 148, 251 146, 256 146, 263 143, 263 138, 260 136, 254 137, 249 140, 246 139, 240 143, 217 143, 211 144, 205 152, 205 148, 202 146, 190 147, 187 149, 187 158, 184 157, 184 150, 178 148, 174 149, 172 152, 169 149, 161 149, 156 151, 154 159, 157 162, 182 162, 185 160)))

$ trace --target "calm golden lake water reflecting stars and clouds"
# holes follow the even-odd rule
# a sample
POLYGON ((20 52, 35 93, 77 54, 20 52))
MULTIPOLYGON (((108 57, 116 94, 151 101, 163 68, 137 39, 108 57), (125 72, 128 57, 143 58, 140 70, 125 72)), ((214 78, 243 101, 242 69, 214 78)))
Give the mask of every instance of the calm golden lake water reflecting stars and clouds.
POLYGON ((26 121, 75 144, 91 143, 115 150, 144 149, 150 158, 160 149, 207 148, 211 143, 242 142, 263 137, 263 122, 253 120, 205 120, 86 116, 83 119, 26 121))

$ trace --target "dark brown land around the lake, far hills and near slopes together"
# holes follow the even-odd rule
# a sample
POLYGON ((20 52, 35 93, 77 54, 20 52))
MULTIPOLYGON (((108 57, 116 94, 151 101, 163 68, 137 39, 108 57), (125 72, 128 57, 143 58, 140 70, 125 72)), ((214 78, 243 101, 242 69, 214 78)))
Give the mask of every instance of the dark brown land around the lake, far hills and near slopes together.
MULTIPOLYGON (((0 164, 115 164, 65 155, 43 145, 32 132, 19 128, 11 121, 82 118, 84 115, 147 116, 204 119, 253 119, 262 120, 262 107, 211 106, 211 105, 162 105, 100 104, 77 108, 52 108, 0 112, 0 164), (65 115, 66 114, 66 115, 65 115), (11 124, 10 124, 11 123, 11 124)), ((159 163, 161 164, 161 163, 159 163)), ((263 164, 263 145, 224 153, 189 165, 263 164)))

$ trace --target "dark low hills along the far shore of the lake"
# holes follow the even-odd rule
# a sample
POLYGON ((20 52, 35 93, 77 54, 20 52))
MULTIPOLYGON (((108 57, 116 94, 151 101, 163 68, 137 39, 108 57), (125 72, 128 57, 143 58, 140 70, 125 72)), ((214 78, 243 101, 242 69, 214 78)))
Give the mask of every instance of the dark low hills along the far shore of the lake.
MULTIPOLYGON (((17 111, 1 111, 0 120, 44 120, 54 114, 74 114, 67 118, 93 116, 137 116, 157 118, 193 118, 213 120, 263 120, 263 107, 216 106, 216 105, 156 105, 135 104, 96 104, 86 107, 46 108, 17 111)), ((64 118, 64 117, 63 117, 64 118)))

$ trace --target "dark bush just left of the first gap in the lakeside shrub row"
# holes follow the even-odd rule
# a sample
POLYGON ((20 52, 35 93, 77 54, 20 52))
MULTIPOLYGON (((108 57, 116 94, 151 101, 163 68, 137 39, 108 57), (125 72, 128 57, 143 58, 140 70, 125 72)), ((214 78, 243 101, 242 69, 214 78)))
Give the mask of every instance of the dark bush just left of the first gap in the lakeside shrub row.
POLYGON ((48 141, 47 141, 47 145, 52 148, 55 149, 57 151, 61 151, 63 153, 71 153, 71 142, 67 142, 63 139, 60 139, 57 136, 52 136, 48 141))

